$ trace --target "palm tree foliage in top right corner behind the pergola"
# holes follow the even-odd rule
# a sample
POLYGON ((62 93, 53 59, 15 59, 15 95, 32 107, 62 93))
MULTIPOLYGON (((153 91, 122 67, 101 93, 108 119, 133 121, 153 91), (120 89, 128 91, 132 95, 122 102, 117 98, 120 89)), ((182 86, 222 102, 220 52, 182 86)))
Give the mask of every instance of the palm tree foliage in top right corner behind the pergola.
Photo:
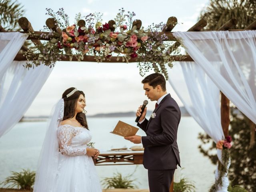
POLYGON ((235 18, 233 28, 243 29, 256 20, 256 0, 210 0, 199 19, 207 21, 207 29, 218 30, 228 20, 235 18))

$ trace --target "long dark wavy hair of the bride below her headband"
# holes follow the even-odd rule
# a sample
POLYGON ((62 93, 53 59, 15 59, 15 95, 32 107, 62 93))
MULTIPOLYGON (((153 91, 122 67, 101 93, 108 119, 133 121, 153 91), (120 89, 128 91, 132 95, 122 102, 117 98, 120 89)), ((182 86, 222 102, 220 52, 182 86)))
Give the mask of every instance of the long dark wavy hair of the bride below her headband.
MULTIPOLYGON (((62 94, 62 98, 64 99, 64 117, 63 120, 66 120, 68 118, 73 118, 75 116, 75 109, 76 109, 76 104, 77 100, 82 94, 84 96, 84 92, 77 90, 72 94, 71 96, 67 97, 67 94, 72 92, 75 88, 70 87, 64 93, 62 94)), ((86 121, 86 116, 83 112, 80 112, 76 114, 76 120, 84 126, 86 129, 88 129, 87 121, 86 121)))

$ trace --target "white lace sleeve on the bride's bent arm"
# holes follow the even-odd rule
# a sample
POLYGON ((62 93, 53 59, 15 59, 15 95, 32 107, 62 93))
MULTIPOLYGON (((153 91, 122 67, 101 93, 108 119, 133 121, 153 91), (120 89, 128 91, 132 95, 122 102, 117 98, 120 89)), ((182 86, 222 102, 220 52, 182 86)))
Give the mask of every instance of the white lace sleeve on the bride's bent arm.
POLYGON ((71 140, 73 137, 71 128, 59 128, 58 129, 58 139, 60 144, 60 152, 67 156, 78 156, 85 155, 85 147, 73 147, 71 146, 71 140))

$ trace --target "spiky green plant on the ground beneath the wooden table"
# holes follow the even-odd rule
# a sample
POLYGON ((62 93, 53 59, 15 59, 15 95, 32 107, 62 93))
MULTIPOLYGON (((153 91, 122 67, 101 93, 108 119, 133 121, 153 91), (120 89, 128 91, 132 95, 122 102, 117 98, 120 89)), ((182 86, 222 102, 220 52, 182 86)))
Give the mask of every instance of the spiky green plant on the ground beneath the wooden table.
MULTIPOLYGON (((137 166, 136 166, 137 168, 137 166)), ((136 171, 136 168, 134 172, 136 171)), ((132 175, 134 174, 129 174, 127 176, 122 176, 121 173, 117 172, 114 173, 113 177, 106 177, 102 180, 102 183, 107 189, 111 188, 124 188, 124 189, 135 189, 138 188, 133 182, 136 181, 136 179, 131 179, 132 175)))

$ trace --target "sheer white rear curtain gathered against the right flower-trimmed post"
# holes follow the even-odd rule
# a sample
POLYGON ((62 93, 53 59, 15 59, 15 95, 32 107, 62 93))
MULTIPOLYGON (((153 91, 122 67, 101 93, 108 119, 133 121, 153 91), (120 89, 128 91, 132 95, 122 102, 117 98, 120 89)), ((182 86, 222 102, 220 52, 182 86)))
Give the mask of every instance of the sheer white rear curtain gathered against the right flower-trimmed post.
MULTIPOLYGON (((224 138, 220 116, 220 90, 195 62, 175 62, 168 70, 168 81, 188 113, 215 143, 224 138)), ((218 159, 222 161, 221 150, 218 159)), ((229 165, 228 165, 229 168, 229 165)), ((215 178, 218 178, 218 166, 215 178)), ((222 177, 218 192, 227 192, 227 173, 222 177)))

